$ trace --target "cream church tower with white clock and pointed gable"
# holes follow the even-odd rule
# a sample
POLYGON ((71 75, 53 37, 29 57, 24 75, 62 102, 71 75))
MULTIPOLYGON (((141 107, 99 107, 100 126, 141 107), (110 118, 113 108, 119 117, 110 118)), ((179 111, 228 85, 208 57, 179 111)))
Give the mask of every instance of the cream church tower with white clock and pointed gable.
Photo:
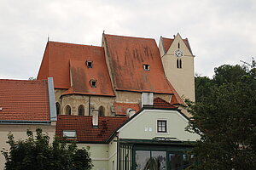
POLYGON ((188 38, 179 33, 173 38, 160 37, 159 48, 168 81, 182 98, 195 101, 195 55, 188 38))

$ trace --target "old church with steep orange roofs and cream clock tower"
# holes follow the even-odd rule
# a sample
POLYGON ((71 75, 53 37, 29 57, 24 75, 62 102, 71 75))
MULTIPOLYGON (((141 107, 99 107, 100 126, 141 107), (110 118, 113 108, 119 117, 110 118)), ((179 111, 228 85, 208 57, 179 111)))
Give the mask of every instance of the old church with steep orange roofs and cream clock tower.
MULTIPOLYGON (((102 34, 102 47, 47 42, 38 80, 53 77, 57 115, 128 116, 164 99, 182 109, 195 101, 189 40, 102 34)), ((189 114, 183 110, 186 116, 189 114)))

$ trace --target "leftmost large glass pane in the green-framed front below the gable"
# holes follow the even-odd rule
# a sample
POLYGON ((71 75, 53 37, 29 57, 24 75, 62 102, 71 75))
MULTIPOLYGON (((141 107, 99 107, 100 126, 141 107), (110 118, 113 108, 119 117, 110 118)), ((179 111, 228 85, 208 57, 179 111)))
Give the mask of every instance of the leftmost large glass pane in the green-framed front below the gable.
POLYGON ((150 167, 150 151, 136 150, 136 170, 149 170, 150 167))

